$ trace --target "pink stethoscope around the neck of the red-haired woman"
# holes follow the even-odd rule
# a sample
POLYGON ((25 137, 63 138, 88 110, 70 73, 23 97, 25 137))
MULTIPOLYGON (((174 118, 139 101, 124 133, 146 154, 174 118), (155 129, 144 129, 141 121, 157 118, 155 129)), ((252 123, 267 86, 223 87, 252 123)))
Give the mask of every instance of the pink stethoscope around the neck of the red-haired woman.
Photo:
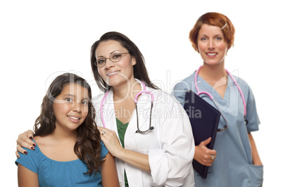
MULTIPOLYGON (((200 94, 206 94, 207 96, 209 96, 209 98, 211 99, 211 101, 213 101, 213 103, 215 104, 216 108, 218 108, 218 105, 216 105, 215 101, 214 101, 214 98, 213 96, 211 96, 210 93, 208 93, 207 91, 199 91, 199 86, 198 84, 196 83, 196 79, 199 75, 199 70, 201 70, 201 67, 202 65, 199 67, 199 69, 196 71, 196 75, 194 76, 194 85, 196 86, 196 95, 200 95, 200 94)), ((245 124, 248 124, 248 120, 246 120, 246 101, 245 101, 245 98, 244 98, 244 94, 243 92, 241 91, 241 88, 239 86, 239 84, 236 82, 236 80, 234 79, 234 77, 225 69, 225 71, 227 72, 227 74, 229 75, 229 77, 231 77, 231 79, 233 80, 234 84, 237 86, 238 90, 239 90, 239 93, 241 94, 241 100, 243 101, 243 104, 244 104, 244 121, 245 121, 245 124)), ((219 108, 218 108, 219 110, 219 108)), ((220 112, 220 110, 219 110, 220 112)), ((222 115, 222 112, 220 112, 221 115, 222 115)), ((225 119, 224 115, 222 115, 222 117, 224 118, 224 120, 226 121, 227 124, 225 124, 225 126, 222 128, 222 129, 218 129, 218 132, 221 132, 221 131, 224 131, 225 129, 227 129, 228 127, 228 122, 227 120, 225 119)))

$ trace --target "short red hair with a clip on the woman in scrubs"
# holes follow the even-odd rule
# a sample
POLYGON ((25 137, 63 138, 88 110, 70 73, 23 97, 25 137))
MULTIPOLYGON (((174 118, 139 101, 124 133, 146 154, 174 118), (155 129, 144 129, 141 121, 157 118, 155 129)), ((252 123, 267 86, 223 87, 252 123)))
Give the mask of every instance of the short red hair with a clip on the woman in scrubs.
POLYGON ((198 49, 198 37, 199 30, 201 30, 201 26, 203 24, 212 25, 216 27, 224 27, 222 28, 222 32, 224 35, 225 41, 227 41, 227 47, 230 49, 231 46, 234 46, 234 34, 235 28, 232 22, 227 18, 227 16, 221 13, 205 13, 199 17, 192 28, 191 32, 189 32, 189 40, 191 41, 191 45, 194 47, 194 50, 199 51, 198 49))

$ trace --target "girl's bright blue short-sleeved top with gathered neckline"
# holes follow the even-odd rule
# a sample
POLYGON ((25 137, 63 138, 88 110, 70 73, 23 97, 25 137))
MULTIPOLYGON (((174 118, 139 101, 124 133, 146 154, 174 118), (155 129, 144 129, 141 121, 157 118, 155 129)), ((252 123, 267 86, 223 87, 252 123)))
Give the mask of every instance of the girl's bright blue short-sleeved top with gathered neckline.
MULTIPOLYGON (((34 141, 35 142, 35 141, 34 141)), ((87 165, 80 159, 58 162, 46 157, 38 146, 27 150, 27 155, 20 153, 15 164, 23 165, 38 174, 39 186, 101 186, 101 173, 84 174, 87 165)), ((101 158, 106 157, 108 150, 101 141, 101 158)))

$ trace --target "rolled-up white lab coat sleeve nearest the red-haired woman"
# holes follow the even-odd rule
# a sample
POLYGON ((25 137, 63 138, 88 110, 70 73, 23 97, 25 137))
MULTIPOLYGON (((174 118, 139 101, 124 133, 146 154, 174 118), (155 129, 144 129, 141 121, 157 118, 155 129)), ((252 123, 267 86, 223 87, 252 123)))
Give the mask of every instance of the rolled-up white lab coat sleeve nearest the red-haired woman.
POLYGON ((170 105, 160 105, 159 108, 172 110, 163 112, 164 116, 159 119, 161 149, 149 152, 151 186, 182 186, 189 172, 193 171, 194 138, 189 117, 175 98, 170 97, 170 100, 170 105))

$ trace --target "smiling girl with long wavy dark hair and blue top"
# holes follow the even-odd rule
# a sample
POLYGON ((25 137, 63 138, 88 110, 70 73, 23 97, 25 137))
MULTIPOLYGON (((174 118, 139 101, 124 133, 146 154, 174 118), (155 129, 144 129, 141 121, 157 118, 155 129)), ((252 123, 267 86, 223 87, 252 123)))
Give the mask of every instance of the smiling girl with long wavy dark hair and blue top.
POLYGON ((118 186, 115 161, 101 143, 91 98, 81 77, 65 73, 54 79, 34 124, 37 146, 15 161, 19 186, 118 186))

